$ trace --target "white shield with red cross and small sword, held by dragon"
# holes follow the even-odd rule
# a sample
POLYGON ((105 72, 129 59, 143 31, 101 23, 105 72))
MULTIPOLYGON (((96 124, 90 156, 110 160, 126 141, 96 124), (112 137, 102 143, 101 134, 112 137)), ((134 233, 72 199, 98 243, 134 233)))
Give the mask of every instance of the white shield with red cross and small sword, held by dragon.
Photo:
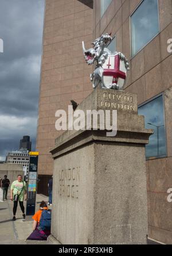
POLYGON ((123 90, 127 77, 126 64, 118 54, 108 55, 103 64, 103 87, 123 90))

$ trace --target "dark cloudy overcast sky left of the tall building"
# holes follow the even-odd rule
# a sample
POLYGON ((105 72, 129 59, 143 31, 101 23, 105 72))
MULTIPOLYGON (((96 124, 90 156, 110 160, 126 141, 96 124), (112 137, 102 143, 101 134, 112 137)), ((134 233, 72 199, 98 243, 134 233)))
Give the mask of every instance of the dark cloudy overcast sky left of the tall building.
POLYGON ((44 0, 0 0, 0 160, 29 135, 35 150, 44 0))

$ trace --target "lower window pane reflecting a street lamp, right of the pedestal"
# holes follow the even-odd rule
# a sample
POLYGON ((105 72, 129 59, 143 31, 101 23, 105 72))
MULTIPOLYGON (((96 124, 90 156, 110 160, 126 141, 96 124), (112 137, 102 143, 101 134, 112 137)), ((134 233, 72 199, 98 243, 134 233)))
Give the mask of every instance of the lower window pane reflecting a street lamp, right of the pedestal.
POLYGON ((146 145, 146 158, 166 156, 166 129, 162 95, 140 106, 138 113, 144 116, 145 128, 154 129, 146 145))

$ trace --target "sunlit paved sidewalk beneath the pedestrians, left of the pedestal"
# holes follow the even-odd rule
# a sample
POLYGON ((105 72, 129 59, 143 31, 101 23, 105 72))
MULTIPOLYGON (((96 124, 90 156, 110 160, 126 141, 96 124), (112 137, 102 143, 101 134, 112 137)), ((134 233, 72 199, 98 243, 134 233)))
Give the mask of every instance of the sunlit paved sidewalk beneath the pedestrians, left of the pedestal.
MULTIPOLYGON (((32 232, 33 220, 22 220, 22 212, 18 204, 16 220, 11 221, 13 217, 13 202, 8 200, 0 202, 0 244, 46 244, 46 241, 28 241, 26 238, 32 232)), ((36 211, 38 211, 40 202, 48 201, 48 197, 37 194, 36 211)), ((26 202, 25 202, 26 206, 26 202)))

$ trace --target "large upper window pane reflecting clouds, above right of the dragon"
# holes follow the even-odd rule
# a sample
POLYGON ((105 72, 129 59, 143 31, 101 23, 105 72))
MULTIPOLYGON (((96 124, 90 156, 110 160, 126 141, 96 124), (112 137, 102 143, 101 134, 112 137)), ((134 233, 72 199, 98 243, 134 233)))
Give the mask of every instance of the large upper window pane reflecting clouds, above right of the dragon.
POLYGON ((144 0, 131 16, 132 56, 158 32, 158 0, 144 0))

